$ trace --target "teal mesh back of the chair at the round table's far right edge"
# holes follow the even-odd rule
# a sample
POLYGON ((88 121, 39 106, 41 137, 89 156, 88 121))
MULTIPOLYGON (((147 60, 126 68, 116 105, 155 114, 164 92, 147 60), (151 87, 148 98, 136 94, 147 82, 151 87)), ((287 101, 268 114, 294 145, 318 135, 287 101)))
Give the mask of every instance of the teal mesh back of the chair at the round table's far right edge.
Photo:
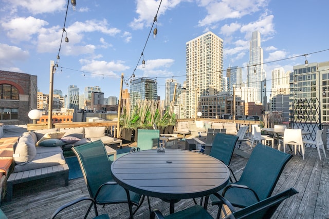
POLYGON ((238 138, 234 135, 217 133, 209 155, 229 165, 238 138))

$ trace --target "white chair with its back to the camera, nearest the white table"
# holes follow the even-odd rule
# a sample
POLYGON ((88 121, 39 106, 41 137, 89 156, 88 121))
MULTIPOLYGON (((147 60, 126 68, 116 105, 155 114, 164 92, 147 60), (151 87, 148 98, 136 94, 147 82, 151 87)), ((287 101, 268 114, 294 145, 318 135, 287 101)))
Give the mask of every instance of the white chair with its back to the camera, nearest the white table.
MULTIPOLYGON (((301 129, 285 129, 283 134, 283 152, 286 152, 286 145, 294 145, 295 155, 297 153, 297 145, 299 146, 299 151, 302 151, 302 156, 304 160, 304 143, 302 137, 301 129)), ((280 150, 281 144, 278 145, 278 150, 280 150)))

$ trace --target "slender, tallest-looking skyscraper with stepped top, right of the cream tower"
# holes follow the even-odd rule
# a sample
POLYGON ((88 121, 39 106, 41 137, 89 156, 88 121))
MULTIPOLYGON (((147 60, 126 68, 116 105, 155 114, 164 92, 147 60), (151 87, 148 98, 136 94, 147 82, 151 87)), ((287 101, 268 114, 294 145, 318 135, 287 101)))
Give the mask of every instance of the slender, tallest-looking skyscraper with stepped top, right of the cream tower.
POLYGON ((247 68, 247 87, 255 88, 255 102, 264 103, 262 82, 266 80, 265 71, 263 68, 263 49, 261 47, 261 33, 258 31, 252 32, 251 41, 249 43, 249 62, 247 68))

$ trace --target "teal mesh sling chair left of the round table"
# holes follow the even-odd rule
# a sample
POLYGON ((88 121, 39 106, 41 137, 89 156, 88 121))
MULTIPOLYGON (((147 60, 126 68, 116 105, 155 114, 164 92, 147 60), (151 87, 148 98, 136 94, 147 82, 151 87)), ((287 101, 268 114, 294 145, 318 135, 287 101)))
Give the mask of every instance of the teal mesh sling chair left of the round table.
MULTIPOLYGON (((144 200, 144 195, 131 191, 127 192, 113 180, 111 173, 112 162, 109 161, 102 141, 98 140, 72 147, 72 150, 77 155, 89 195, 95 200, 96 204, 131 203, 137 206, 133 212, 132 206, 129 204, 129 210, 133 218, 133 214, 144 200)), ((89 210, 91 207, 92 205, 90 205, 89 210)))

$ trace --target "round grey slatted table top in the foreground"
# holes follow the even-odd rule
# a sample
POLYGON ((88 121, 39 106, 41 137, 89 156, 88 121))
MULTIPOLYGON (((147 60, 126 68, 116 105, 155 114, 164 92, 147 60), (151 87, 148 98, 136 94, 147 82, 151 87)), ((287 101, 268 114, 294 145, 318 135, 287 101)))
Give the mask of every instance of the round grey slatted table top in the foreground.
POLYGON ((111 170, 122 187, 168 200, 213 194, 227 185, 230 175, 216 158, 177 149, 132 152, 113 162, 111 170))

